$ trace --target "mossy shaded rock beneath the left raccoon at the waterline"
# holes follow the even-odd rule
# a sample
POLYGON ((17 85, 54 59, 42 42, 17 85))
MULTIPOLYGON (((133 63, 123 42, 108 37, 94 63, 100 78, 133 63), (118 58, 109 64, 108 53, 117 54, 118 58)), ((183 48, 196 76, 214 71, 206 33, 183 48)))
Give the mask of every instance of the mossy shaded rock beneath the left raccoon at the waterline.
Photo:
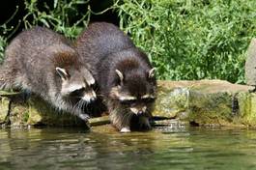
POLYGON ((2 96, 2 100, 5 101, 0 105, 0 123, 2 124, 9 111, 11 126, 85 126, 84 122, 70 113, 57 112, 43 99, 34 96, 24 101, 22 95, 17 94, 12 98, 2 96), (12 100, 11 107, 6 109, 10 99, 12 100))

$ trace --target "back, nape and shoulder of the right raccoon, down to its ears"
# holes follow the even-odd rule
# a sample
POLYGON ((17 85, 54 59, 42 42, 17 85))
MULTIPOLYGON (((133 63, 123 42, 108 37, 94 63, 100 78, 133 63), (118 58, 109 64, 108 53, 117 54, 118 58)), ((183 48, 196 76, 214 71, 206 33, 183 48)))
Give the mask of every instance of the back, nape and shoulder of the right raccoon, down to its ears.
POLYGON ((78 37, 75 47, 97 79, 101 92, 108 92, 118 70, 149 71, 152 66, 128 35, 117 26, 95 22, 78 37), (135 65, 130 65, 134 63, 135 65))

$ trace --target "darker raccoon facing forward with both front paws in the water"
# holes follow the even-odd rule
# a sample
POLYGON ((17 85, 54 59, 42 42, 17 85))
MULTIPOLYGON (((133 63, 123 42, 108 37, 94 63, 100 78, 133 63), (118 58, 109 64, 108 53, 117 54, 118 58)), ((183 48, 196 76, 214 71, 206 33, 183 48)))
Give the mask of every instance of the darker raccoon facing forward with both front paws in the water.
POLYGON ((121 132, 132 127, 150 129, 156 69, 147 55, 118 27, 106 22, 89 25, 78 36, 75 47, 82 61, 89 64, 113 126, 121 132), (131 120, 138 121, 134 125, 131 120))

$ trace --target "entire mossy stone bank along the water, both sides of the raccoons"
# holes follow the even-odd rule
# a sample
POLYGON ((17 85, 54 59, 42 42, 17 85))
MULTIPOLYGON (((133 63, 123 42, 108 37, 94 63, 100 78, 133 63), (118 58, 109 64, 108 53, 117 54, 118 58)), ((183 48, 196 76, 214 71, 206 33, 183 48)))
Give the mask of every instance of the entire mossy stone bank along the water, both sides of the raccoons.
MULTIPOLYGON (((251 86, 221 80, 158 81, 153 114, 199 126, 256 128, 256 94, 249 93, 252 89, 251 86)), ((5 118, 8 112, 11 113, 13 126, 83 124, 71 114, 57 113, 48 103, 35 97, 22 101, 20 98, 12 98, 12 95, 2 95, 0 123, 7 121, 5 118)), ((101 123, 108 121, 104 119, 101 123)), ((95 125, 98 124, 96 121, 95 125)))

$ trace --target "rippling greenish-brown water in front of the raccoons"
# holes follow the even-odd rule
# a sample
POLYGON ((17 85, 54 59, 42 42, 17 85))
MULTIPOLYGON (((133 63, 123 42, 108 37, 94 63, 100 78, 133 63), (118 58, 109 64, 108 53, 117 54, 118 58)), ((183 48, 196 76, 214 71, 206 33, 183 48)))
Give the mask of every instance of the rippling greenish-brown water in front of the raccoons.
POLYGON ((256 130, 0 129, 0 170, 5 169, 256 169, 256 130))

